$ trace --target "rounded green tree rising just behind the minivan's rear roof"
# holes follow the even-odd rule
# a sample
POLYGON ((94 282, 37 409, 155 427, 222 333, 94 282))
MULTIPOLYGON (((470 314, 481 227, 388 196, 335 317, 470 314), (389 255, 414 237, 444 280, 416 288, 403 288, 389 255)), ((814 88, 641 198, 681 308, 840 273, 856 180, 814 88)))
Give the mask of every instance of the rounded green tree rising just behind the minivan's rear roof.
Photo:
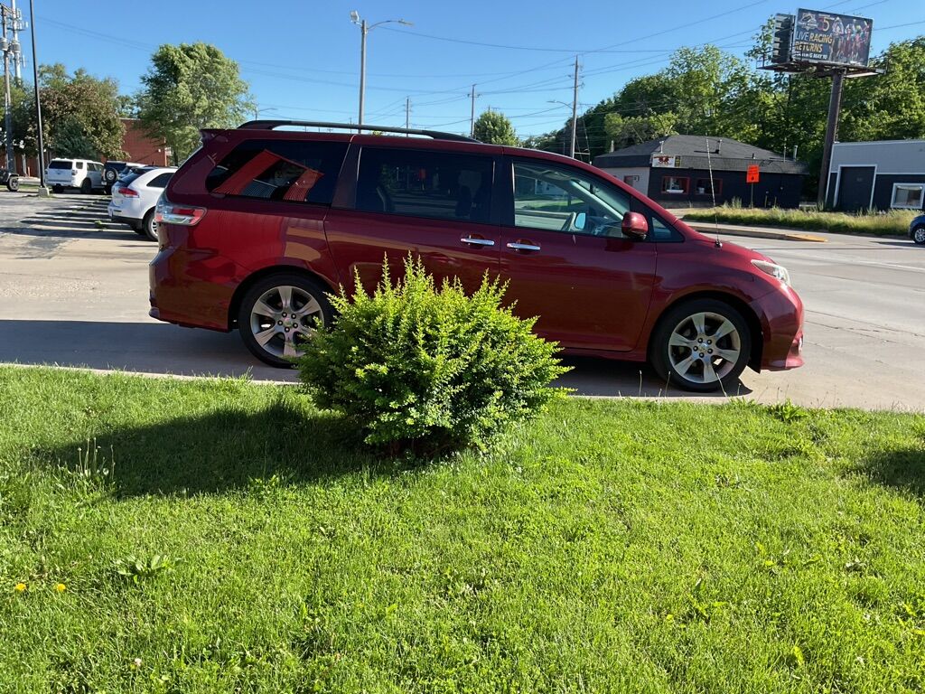
POLYGON ((253 110, 238 63, 208 43, 162 45, 151 56, 137 96, 142 125, 163 138, 178 161, 191 154, 203 128, 233 128, 253 110))

